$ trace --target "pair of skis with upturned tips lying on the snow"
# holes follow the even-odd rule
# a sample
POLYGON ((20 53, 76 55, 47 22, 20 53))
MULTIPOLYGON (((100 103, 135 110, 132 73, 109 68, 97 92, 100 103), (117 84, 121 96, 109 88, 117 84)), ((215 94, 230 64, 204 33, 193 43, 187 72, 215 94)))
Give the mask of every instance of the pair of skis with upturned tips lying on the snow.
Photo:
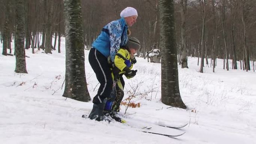
MULTIPOLYGON (((83 118, 87 118, 87 116, 85 115, 82 115, 83 118)), ((108 121, 108 122, 117 122, 115 121, 114 119, 112 121, 108 121)), ((138 126, 134 126, 134 125, 131 125, 131 124, 128 124, 127 120, 122 120, 121 123, 123 123, 124 125, 127 125, 127 126, 130 126, 132 128, 138 128, 138 126)), ((142 122, 142 121, 141 121, 142 122)), ((144 123, 144 122, 143 122, 144 123)), ((152 124, 151 124, 152 125, 152 124)), ((186 123, 185 125, 180 125, 180 126, 167 126, 167 125, 156 125, 156 126, 161 126, 161 127, 165 127, 165 128, 171 128, 171 129, 182 129, 184 128, 185 126, 187 126, 188 123, 186 123)), ((144 132, 144 133, 148 133, 148 134, 155 134, 155 135, 162 135, 162 136, 165 136, 165 137, 169 137, 169 138, 176 138, 176 137, 179 137, 183 134, 185 134, 186 132, 183 132, 181 134, 178 134, 178 135, 168 135, 168 134, 162 134, 162 133, 158 133, 158 132, 150 132, 150 131, 147 131, 147 130, 151 130, 152 127, 148 127, 148 126, 144 126, 143 128, 140 128, 142 129, 141 132, 144 132)))

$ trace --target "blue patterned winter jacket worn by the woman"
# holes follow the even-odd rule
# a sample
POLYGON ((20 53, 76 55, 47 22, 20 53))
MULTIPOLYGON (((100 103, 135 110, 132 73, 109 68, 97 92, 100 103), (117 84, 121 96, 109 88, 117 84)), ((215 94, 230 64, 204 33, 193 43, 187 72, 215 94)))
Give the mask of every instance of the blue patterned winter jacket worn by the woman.
POLYGON ((92 47, 100 51, 106 58, 110 55, 112 62, 114 62, 120 46, 127 43, 127 30, 128 25, 124 18, 112 21, 103 27, 100 35, 92 43, 92 47))

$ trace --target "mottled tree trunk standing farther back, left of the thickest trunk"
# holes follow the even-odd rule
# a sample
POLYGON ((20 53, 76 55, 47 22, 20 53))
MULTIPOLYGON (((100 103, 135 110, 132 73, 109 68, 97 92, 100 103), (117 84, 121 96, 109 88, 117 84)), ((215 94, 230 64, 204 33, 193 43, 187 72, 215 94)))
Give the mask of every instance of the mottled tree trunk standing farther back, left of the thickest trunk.
POLYGON ((25 49, 24 49, 24 27, 25 27, 25 10, 24 0, 15 1, 16 12, 16 34, 15 34, 15 57, 16 57, 16 73, 27 73, 25 49))

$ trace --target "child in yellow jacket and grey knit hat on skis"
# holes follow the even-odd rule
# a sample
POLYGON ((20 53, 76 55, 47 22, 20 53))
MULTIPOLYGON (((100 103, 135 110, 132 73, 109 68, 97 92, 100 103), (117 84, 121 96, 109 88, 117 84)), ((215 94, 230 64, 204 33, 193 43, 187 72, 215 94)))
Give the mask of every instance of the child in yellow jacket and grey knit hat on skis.
POLYGON ((140 42, 135 37, 131 37, 127 45, 120 46, 120 49, 115 55, 114 65, 112 68, 113 90, 110 98, 106 102, 104 114, 110 116, 116 121, 124 123, 121 117, 118 117, 119 107, 124 97, 124 79, 125 75, 128 79, 136 75, 137 70, 131 70, 133 64, 136 63, 134 54, 140 49, 140 42))

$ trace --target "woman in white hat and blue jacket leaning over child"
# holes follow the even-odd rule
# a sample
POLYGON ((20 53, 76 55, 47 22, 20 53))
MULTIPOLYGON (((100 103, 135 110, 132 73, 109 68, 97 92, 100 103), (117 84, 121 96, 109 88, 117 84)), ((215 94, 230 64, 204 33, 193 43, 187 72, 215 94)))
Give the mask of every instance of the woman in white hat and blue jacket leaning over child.
POLYGON ((92 49, 89 52, 89 63, 100 82, 98 93, 94 96, 94 103, 90 119, 103 120, 103 110, 107 98, 112 91, 113 80, 107 57, 110 56, 114 62, 116 52, 120 46, 124 46, 128 40, 128 27, 131 27, 137 19, 137 10, 133 7, 127 7, 120 13, 121 19, 112 21, 105 25, 101 34, 92 43, 92 49))

